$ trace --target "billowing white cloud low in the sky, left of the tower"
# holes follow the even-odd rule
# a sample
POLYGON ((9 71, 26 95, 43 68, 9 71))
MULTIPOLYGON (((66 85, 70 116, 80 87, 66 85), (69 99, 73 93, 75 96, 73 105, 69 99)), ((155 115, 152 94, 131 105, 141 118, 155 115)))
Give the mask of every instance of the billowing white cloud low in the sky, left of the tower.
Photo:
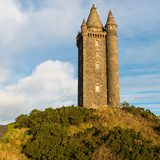
POLYGON ((32 109, 76 104, 77 79, 69 62, 48 60, 17 84, 0 90, 0 122, 13 121, 32 109))

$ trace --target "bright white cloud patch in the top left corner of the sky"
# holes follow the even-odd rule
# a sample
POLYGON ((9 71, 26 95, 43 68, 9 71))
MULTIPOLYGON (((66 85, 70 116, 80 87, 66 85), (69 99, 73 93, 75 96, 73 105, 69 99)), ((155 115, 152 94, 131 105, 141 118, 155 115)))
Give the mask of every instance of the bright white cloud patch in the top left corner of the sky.
POLYGON ((27 17, 20 11, 20 4, 14 0, 0 2, 0 46, 12 44, 27 17))

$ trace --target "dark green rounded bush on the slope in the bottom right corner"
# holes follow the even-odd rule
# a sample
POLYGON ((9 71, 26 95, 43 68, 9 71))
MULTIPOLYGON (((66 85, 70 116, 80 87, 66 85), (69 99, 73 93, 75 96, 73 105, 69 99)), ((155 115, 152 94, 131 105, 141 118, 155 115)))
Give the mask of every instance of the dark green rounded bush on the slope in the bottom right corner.
POLYGON ((144 139, 140 132, 136 133, 134 129, 114 128, 107 135, 106 144, 123 159, 158 160, 159 158, 155 155, 156 149, 152 146, 151 141, 144 139))

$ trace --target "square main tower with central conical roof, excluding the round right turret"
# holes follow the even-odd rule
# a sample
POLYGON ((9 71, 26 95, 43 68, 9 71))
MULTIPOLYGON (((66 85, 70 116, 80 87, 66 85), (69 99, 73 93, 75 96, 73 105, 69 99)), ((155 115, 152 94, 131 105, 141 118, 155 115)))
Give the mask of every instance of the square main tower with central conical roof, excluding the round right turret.
POLYGON ((78 105, 107 107, 106 31, 93 4, 77 35, 78 105))

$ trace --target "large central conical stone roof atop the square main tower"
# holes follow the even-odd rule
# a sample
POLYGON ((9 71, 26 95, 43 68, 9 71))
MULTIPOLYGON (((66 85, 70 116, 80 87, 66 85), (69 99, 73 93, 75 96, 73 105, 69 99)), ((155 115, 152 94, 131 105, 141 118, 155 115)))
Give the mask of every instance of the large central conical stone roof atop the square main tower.
POLYGON ((88 16, 87 27, 88 28, 101 28, 101 29, 103 28, 101 20, 99 18, 99 15, 97 13, 97 10, 94 4, 88 16))

